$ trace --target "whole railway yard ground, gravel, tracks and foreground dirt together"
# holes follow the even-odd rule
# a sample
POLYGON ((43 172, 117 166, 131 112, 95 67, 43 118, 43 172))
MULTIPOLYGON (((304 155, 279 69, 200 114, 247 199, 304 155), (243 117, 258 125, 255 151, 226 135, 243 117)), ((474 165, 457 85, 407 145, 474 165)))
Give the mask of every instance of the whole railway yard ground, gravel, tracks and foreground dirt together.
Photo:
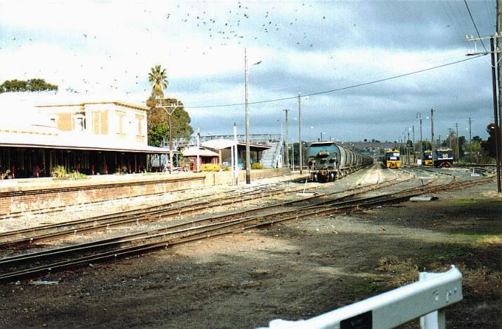
POLYGON ((0 327, 253 328, 451 264, 464 299, 447 327, 502 327, 502 198, 489 170, 376 163, 324 184, 308 176, 0 219, 0 327), (437 199, 409 201, 419 195, 437 199))

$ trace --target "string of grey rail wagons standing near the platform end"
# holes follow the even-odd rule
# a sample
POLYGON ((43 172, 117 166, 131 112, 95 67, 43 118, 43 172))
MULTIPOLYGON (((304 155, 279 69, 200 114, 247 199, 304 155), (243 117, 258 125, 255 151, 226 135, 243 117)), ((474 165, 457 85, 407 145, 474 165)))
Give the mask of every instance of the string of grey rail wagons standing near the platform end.
POLYGON ((332 182, 369 166, 373 159, 335 142, 313 142, 307 149, 307 163, 314 182, 332 182))

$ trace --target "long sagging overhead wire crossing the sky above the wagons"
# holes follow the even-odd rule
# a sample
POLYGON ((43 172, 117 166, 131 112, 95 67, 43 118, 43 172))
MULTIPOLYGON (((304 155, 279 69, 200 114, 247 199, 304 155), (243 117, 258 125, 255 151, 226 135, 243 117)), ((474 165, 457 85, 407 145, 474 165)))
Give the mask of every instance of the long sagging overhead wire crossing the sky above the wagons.
MULTIPOLYGON (((304 95, 301 95, 301 97, 303 98, 303 97, 309 97, 309 96, 317 96, 317 95, 320 95, 320 94, 328 94, 330 92, 339 92, 341 90, 353 89, 353 88, 363 87, 363 86, 367 86, 367 85, 373 85, 373 84, 379 83, 379 82, 384 82, 384 81, 398 79, 399 77, 407 77, 408 75, 415 75, 415 74, 418 74, 418 73, 427 72, 429 70, 436 70, 437 68, 444 68, 445 66, 451 66, 451 65, 454 65, 454 64, 463 63, 465 61, 470 61, 471 59, 474 59, 474 58, 477 58, 477 57, 481 57, 481 56, 484 56, 484 55, 473 56, 473 57, 470 57, 470 58, 462 59, 460 61, 455 61, 455 62, 451 62, 451 63, 441 64, 439 66, 433 66, 432 68, 424 68, 422 70, 416 70, 416 71, 413 71, 413 72, 404 73, 404 74, 400 74, 400 75, 394 75, 392 77, 384 77, 383 79, 373 80, 373 81, 370 81, 370 82, 363 82, 363 83, 360 83, 358 85, 351 85, 351 86, 347 86, 347 87, 340 87, 340 88, 337 88, 337 89, 325 90, 323 92, 313 92, 312 94, 304 94, 304 95)), ((267 99, 265 101, 251 101, 248 104, 273 103, 275 101, 287 101, 287 100, 291 100, 291 99, 298 99, 298 96, 283 97, 283 98, 277 98, 277 99, 267 99)), ((184 106, 184 108, 215 108, 215 107, 229 107, 229 106, 244 106, 245 104, 246 103, 219 104, 219 105, 202 105, 202 106, 184 106)))

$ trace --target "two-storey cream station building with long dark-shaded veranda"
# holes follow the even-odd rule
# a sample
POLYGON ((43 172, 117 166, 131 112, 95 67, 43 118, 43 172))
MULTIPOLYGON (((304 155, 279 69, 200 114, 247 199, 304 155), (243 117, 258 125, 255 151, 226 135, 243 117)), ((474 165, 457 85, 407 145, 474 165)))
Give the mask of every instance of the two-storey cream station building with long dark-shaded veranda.
POLYGON ((58 92, 0 94, 0 173, 49 177, 64 166, 86 175, 149 171, 148 107, 58 92))

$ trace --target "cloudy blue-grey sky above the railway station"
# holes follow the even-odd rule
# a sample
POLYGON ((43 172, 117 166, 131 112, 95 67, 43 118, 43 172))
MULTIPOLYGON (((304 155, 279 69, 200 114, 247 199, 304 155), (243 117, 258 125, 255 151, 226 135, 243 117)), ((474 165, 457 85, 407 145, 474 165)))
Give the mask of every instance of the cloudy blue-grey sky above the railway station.
MULTIPOLYGON (((496 1, 467 3, 493 35, 496 1)), ((301 92, 305 140, 391 141, 413 125, 419 139, 418 113, 430 139, 431 108, 435 135, 458 123, 468 136, 471 117, 486 138, 490 58, 465 56, 475 25, 464 1, 0 0, 0 82, 40 77, 141 103, 160 64, 194 130, 231 134, 235 122, 243 133, 246 49, 251 133, 279 134, 289 109, 296 139, 301 92)))

